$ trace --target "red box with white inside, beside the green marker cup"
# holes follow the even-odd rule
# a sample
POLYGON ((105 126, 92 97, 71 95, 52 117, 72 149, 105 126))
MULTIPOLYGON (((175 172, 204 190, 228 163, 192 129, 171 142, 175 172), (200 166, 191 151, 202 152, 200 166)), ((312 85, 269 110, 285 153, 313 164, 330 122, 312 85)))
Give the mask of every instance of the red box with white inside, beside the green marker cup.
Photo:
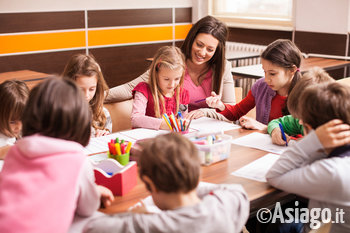
POLYGON ((123 196, 137 183, 137 165, 131 161, 121 165, 115 159, 105 159, 93 163, 95 182, 109 188, 115 196, 123 196))

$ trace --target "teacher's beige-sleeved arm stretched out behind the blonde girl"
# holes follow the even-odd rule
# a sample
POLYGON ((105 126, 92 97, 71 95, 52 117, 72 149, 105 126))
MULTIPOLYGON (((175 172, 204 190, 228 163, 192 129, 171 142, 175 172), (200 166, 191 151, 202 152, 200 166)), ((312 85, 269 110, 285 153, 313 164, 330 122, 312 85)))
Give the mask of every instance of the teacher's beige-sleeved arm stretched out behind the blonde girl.
POLYGON ((105 103, 120 102, 131 99, 132 90, 136 87, 136 85, 140 82, 148 82, 148 79, 149 70, 147 70, 145 73, 128 83, 113 87, 109 90, 109 93, 105 99, 105 103))

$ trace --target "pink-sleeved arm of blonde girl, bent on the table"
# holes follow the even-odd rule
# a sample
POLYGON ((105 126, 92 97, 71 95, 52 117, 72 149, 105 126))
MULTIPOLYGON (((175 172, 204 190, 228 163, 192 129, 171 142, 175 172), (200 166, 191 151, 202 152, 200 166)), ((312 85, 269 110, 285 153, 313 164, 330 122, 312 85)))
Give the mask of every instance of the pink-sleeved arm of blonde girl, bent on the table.
POLYGON ((147 98, 138 91, 135 91, 132 105, 131 124, 133 128, 147 129, 168 129, 166 122, 162 118, 146 116, 147 98))

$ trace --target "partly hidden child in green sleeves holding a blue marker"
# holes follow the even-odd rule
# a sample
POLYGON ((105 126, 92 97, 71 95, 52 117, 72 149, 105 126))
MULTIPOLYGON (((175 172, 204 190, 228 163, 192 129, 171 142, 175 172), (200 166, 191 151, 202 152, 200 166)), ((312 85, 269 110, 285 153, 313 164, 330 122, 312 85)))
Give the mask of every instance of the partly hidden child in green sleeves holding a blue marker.
POLYGON ((290 136, 304 135, 302 124, 299 123, 299 119, 296 114, 296 108, 299 106, 299 98, 304 89, 312 84, 333 82, 334 79, 322 68, 314 67, 310 71, 306 72, 302 78, 295 85, 290 95, 288 96, 287 107, 291 115, 287 115, 275 120, 270 121, 267 126, 267 132, 271 135, 272 143, 277 145, 285 145, 286 141, 282 139, 282 133, 279 128, 281 123, 284 133, 286 135, 287 142, 290 140, 290 136))

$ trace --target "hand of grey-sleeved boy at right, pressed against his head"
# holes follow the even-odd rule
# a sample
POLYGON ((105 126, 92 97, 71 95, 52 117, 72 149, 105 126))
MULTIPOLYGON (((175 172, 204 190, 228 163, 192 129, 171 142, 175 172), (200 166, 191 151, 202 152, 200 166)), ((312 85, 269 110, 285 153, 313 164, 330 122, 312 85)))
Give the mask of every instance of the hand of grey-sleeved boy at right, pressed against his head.
POLYGON ((324 148, 334 148, 350 143, 350 125, 342 120, 331 120, 319 126, 316 135, 324 148))

